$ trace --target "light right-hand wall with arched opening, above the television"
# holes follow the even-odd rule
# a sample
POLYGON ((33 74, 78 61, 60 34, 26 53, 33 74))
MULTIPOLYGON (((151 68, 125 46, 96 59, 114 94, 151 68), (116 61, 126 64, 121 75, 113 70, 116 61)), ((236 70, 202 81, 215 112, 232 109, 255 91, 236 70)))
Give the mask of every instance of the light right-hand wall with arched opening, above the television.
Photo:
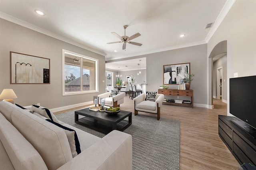
MULTIPOLYGON (((207 43, 207 56, 219 42, 227 40, 227 100, 229 113, 229 78, 256 75, 256 1, 236 0, 207 43)), ((211 60, 211 59, 209 59, 211 60)), ((211 65, 208 64, 208 80, 211 83, 211 65)), ((208 100, 211 89, 208 89, 208 100)))

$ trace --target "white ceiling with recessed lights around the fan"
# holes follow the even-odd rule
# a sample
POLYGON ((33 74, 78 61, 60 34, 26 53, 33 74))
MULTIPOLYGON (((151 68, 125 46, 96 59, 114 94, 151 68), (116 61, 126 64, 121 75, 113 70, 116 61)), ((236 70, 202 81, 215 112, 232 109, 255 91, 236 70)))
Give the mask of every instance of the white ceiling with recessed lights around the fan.
MULTIPOLYGON (((234 0, 0 0, 0 17, 106 56, 106 61, 207 43, 234 0), (34 10, 41 10, 39 16, 34 10), (206 24, 214 22, 212 28, 206 24), (122 43, 111 34, 139 32, 122 43), (180 38, 180 34, 185 34, 180 38), (117 52, 114 52, 117 50, 117 52)), ((137 59, 138 60, 138 59, 137 59)), ((126 61, 133 69, 138 61, 126 61)), ((107 69, 118 70, 106 64, 107 69)), ((136 68, 135 68, 136 67, 136 68)), ((121 68, 121 69, 127 69, 121 68)))

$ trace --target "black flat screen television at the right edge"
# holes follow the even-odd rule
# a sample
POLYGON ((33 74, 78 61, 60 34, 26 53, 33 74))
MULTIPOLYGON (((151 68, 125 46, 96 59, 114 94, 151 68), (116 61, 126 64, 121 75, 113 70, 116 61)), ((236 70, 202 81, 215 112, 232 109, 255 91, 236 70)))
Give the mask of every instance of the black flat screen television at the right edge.
POLYGON ((242 121, 232 121, 256 138, 256 76, 229 79, 230 113, 242 121))

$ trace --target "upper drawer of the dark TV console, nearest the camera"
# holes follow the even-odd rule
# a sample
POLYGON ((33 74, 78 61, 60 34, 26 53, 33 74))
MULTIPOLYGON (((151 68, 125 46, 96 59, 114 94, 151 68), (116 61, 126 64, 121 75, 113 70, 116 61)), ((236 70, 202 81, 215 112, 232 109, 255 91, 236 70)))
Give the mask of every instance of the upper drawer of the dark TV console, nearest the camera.
POLYGON ((236 132, 233 133, 233 142, 240 148, 244 150, 246 155, 251 159, 252 163, 256 164, 256 151, 248 145, 236 132))

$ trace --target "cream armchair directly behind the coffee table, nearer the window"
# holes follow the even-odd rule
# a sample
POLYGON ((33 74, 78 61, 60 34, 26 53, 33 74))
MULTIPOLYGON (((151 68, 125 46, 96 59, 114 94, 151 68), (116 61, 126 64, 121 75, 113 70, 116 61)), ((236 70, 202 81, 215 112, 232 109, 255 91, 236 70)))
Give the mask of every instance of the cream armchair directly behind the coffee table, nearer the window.
POLYGON ((119 107, 124 103, 125 92, 119 92, 117 95, 110 97, 111 91, 98 95, 98 104, 100 105, 100 98, 105 98, 105 106, 119 107))

